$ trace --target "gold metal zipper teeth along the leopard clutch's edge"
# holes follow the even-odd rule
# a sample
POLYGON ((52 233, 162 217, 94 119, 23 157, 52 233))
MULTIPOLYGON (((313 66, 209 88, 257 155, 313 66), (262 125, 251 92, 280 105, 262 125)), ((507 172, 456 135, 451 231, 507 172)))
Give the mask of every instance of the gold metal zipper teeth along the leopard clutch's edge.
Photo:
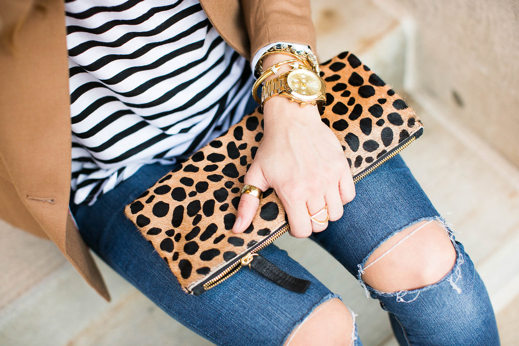
MULTIPOLYGON (((356 178, 353 179, 353 182, 354 183, 357 183, 360 181, 360 179, 366 177, 368 174, 372 173, 374 170, 376 170, 381 164, 383 164, 384 162, 386 162, 387 160, 391 159, 392 157, 394 157, 395 155, 397 155, 398 153, 400 153, 400 151, 402 151, 406 146, 408 146, 409 144, 411 144, 414 140, 416 140, 416 137, 411 137, 406 143, 404 143, 401 147, 399 147, 398 149, 394 150, 391 154, 389 154, 388 156, 386 156, 383 160, 380 160, 377 164, 375 164, 372 168, 368 169, 367 171, 365 171, 364 173, 358 175, 356 178)), ((252 250, 250 253, 255 253, 255 252, 258 252, 260 250, 262 250, 263 248, 265 248, 266 246, 270 245, 272 242, 274 242, 276 239, 278 239, 279 237, 282 236, 283 233, 285 233, 286 231, 288 231, 290 229, 290 225, 285 225, 283 226, 282 228, 279 229, 279 231, 277 231, 274 236, 272 236, 270 239, 266 240, 265 242, 263 242, 260 246, 256 247, 254 250, 252 250)), ((222 282, 224 282, 225 280, 229 279, 231 276, 233 276, 234 274, 236 274, 238 272, 238 270, 240 270, 242 268, 241 266, 241 258, 238 259, 237 261, 235 261, 233 264, 231 264, 229 267, 227 267, 223 272, 221 272, 220 274, 216 275, 214 278, 212 278, 211 280, 209 280, 208 282, 204 283, 203 284, 203 288, 205 290, 208 290, 210 288, 213 288, 214 286, 216 286, 217 284, 220 284, 222 282), (229 272, 231 270, 234 270, 233 272, 231 272, 229 274, 229 272), (228 275, 227 275, 228 274, 228 275), (226 276, 227 275, 227 276, 226 276)))

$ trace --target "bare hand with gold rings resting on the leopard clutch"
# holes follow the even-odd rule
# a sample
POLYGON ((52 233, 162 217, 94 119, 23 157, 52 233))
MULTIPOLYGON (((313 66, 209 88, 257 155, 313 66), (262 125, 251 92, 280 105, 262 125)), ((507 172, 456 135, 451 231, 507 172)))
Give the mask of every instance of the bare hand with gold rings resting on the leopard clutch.
MULTIPOLYGON (((343 205, 355 196, 350 167, 332 130, 321 121, 317 106, 299 106, 281 96, 264 107, 265 133, 245 174, 244 184, 262 191, 275 189, 296 238, 327 227, 311 222, 308 213, 328 206, 330 220, 343 215, 343 205)), ((259 199, 244 193, 238 205, 233 232, 241 233, 252 222, 259 199)), ((316 218, 325 219, 323 212, 316 218)))

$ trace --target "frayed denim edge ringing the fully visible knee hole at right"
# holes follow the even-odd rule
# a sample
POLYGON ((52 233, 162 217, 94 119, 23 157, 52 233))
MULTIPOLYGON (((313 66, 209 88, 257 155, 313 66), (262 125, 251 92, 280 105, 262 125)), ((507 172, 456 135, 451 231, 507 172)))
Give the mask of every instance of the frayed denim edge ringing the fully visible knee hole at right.
MULTIPOLYGON (((455 264, 454 264, 453 268, 447 274, 445 274, 442 279, 440 279, 439 281, 437 281, 437 282, 435 282, 433 284, 430 284, 430 285, 427 285, 427 286, 424 286, 424 287, 420 287, 420 288, 410 289, 410 290, 405 290, 404 289, 404 290, 400 290, 399 292, 392 292, 392 293, 391 292, 381 292, 381 291, 371 287, 370 285, 366 284, 362 280, 362 272, 363 272, 362 266, 363 266, 363 264, 365 264, 367 259, 373 253, 373 251, 375 251, 375 249, 374 249, 372 252, 370 252, 363 259, 362 264, 359 265, 359 271, 358 271, 358 274, 357 274, 357 280, 361 284, 361 286, 364 288, 364 291, 366 293, 366 297, 369 297, 369 293, 373 293, 375 295, 382 296, 382 297, 397 297, 397 299, 398 298, 402 299, 402 297, 407 295, 407 294, 419 295, 420 292, 424 292, 425 290, 432 289, 435 286, 438 286, 438 285, 442 284, 445 281, 448 282, 448 279, 451 278, 451 276, 456 273, 456 271, 459 269, 459 266, 461 264, 463 264, 464 259, 463 259, 463 256, 461 255, 460 251, 459 251, 459 245, 457 244, 457 242, 455 240, 455 237, 454 237, 454 233, 455 232, 450 228, 450 225, 445 221, 445 219, 442 216, 428 216, 428 217, 419 218, 419 219, 415 220, 414 222, 410 223, 409 225, 407 225, 406 227, 402 228, 401 230, 395 231, 390 236, 388 236, 387 239, 391 238, 394 234, 397 234, 398 232, 404 230, 405 228, 410 227, 410 226, 412 226, 414 224, 417 224, 417 223, 419 223, 419 222, 421 222, 423 220, 434 220, 434 219, 439 220, 442 223, 442 225, 445 228, 445 230, 447 231, 449 239, 452 242, 452 244, 454 246, 454 249, 456 251, 456 261, 455 261, 455 264)), ((386 241, 386 240, 384 240, 384 241, 386 241)), ((383 243, 383 242, 381 242, 381 243, 383 243)), ((451 287, 453 287, 453 289, 455 289, 454 286, 451 285, 451 287)), ((414 299, 416 299, 416 298, 417 297, 415 297, 414 299)), ((411 301, 413 301, 413 300, 411 300, 411 301)), ((404 300, 401 300, 401 301, 405 302, 404 300)), ((410 301, 407 301, 407 302, 410 302, 410 301)))

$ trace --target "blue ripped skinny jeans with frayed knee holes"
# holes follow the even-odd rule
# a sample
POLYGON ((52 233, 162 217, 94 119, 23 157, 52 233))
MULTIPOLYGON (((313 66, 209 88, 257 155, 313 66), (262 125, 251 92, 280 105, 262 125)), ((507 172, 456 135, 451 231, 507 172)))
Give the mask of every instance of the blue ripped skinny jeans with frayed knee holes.
MULTIPOLYGON (((342 299, 275 243, 260 253, 284 271, 310 280, 306 293, 284 289, 253 270, 240 270, 200 296, 186 294, 153 245, 123 214, 126 204, 174 166, 144 165, 92 206, 70 205, 87 245, 173 319, 218 345, 282 345, 321 303, 342 299)), ((380 301, 399 343, 498 345, 494 311, 480 276, 400 155, 363 178, 356 191, 343 217, 310 238, 380 301), (395 293, 379 292, 363 282, 370 254, 393 234, 422 220, 444 225, 456 250, 454 267, 434 284, 395 293)), ((348 330, 353 344, 360 345, 357 325, 348 330)))

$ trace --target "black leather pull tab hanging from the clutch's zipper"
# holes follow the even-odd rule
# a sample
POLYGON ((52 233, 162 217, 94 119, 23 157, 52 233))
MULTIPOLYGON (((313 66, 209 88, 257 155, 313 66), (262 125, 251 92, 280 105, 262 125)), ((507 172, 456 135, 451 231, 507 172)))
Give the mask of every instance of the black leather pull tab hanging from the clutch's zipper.
POLYGON ((252 269, 283 288, 290 289, 297 293, 306 292, 310 281, 290 275, 260 254, 254 255, 252 261, 249 263, 252 269))

